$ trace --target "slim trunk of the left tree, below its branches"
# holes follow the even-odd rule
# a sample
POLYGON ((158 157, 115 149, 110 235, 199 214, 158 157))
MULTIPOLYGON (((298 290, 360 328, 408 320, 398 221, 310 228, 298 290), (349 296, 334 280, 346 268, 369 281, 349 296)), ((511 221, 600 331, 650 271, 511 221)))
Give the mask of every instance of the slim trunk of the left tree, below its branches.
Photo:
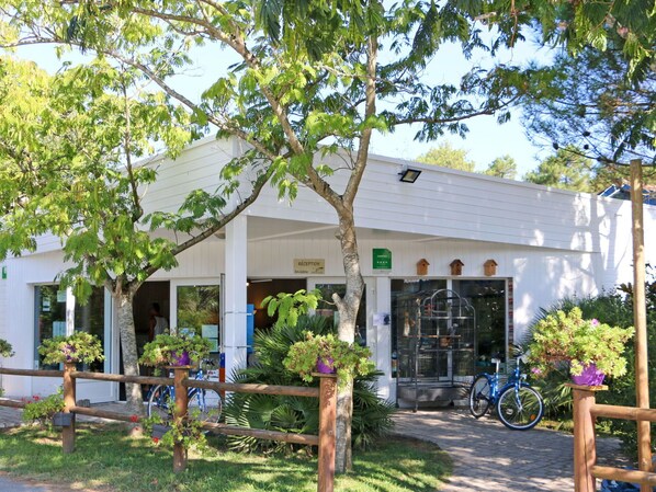
MULTIPOLYGON (((121 333, 121 348, 123 350, 123 373, 126 376, 138 376, 139 362, 133 312, 134 291, 128 289, 127 293, 120 293, 115 295, 115 299, 118 305, 118 332, 121 333)), ((142 385, 126 382, 125 397, 131 413, 144 415, 142 385)))

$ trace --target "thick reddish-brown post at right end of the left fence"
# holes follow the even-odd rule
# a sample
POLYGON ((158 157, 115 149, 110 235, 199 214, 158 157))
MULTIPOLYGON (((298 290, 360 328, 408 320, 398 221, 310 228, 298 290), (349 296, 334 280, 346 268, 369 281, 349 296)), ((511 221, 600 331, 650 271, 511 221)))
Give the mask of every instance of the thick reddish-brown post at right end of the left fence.
POLYGON ((337 434, 337 376, 319 377, 319 478, 318 492, 332 492, 335 487, 335 448, 337 434))

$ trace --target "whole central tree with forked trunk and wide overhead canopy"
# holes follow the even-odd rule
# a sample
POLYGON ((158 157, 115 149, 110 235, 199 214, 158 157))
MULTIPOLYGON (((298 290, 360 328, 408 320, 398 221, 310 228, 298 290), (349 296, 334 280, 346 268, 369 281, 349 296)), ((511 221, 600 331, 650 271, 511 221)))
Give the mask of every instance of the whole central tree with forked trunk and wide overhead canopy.
MULTIPOLYGON (((509 106, 530 90, 531 81, 520 84, 519 69, 506 66, 475 68, 459 85, 421 79, 443 42, 459 43, 465 56, 484 48, 472 19, 479 12, 466 10, 475 7, 380 0, 71 0, 43 9, 36 0, 2 0, 7 15, 0 32, 4 46, 72 44, 137 68, 199 124, 248 142, 252 151, 239 163, 272 165, 281 195, 293 198, 303 185, 323 197, 337 214, 346 275, 346 295, 333 297, 338 333, 353 342, 364 285, 353 204, 372 134, 418 124, 419 139, 445 131, 462 136, 471 117, 497 114, 506 121, 509 106), (240 59, 200 100, 171 80, 192 62, 189 50, 195 45, 216 53, 227 48, 240 59), (341 161, 331 165, 338 152, 346 169, 341 161), (346 174, 346 184, 331 180, 337 172, 346 174)), ((340 471, 351 464, 352 381, 343 388, 340 471)))

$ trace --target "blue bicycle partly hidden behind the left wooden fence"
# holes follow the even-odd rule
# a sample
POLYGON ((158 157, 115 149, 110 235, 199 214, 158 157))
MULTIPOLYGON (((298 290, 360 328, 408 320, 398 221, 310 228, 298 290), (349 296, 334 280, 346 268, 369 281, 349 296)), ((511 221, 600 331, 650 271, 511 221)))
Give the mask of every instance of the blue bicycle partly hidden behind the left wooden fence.
MULTIPOLYGON (((201 368, 194 375, 195 380, 207 380, 206 370, 203 365, 214 366, 214 361, 203 359, 201 368)), ((189 388, 188 409, 191 415, 203 422, 218 422, 223 410, 223 400, 213 389, 189 388)), ((173 413, 173 402, 176 401, 176 387, 158 385, 148 392, 148 416, 159 415, 163 421, 170 420, 173 413)))

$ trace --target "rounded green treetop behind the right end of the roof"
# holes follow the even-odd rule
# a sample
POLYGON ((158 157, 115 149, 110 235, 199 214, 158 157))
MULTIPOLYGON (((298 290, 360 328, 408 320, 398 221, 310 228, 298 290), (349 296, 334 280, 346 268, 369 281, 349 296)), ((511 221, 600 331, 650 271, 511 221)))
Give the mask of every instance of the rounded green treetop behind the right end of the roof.
POLYGON ((592 161, 574 147, 559 148, 554 156, 543 160, 535 171, 528 172, 524 181, 562 190, 593 193, 592 161))

